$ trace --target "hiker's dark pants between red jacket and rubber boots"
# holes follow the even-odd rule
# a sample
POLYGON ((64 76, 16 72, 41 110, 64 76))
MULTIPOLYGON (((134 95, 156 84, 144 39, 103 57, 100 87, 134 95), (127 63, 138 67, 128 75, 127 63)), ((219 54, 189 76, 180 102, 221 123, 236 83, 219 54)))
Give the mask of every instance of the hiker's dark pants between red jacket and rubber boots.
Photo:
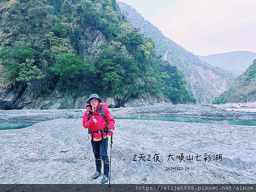
POLYGON ((109 163, 108 159, 108 138, 101 141, 91 140, 93 153, 96 159, 102 158, 105 163, 109 163), (104 146, 104 147, 103 147, 104 146))

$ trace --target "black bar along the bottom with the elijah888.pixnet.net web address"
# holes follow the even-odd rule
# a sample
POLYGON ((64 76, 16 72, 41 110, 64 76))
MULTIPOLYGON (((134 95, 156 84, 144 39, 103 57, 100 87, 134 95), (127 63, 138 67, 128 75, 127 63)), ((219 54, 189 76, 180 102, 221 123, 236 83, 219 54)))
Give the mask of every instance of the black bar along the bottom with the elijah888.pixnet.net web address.
POLYGON ((256 184, 0 184, 0 192, 255 192, 256 184))

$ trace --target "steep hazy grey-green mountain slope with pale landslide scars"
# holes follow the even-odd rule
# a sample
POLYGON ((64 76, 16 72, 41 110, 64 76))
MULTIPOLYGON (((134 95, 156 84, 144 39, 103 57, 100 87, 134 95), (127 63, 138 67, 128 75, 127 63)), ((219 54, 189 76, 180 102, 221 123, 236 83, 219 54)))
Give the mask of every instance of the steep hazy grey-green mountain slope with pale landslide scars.
POLYGON ((228 84, 234 79, 232 73, 202 61, 193 53, 165 37, 157 27, 145 20, 131 6, 120 1, 117 3, 127 13, 128 20, 145 36, 155 41, 157 53, 164 55, 163 59, 172 61, 183 71, 188 82, 187 87, 192 91, 198 103, 209 104, 216 96, 227 90, 228 84))

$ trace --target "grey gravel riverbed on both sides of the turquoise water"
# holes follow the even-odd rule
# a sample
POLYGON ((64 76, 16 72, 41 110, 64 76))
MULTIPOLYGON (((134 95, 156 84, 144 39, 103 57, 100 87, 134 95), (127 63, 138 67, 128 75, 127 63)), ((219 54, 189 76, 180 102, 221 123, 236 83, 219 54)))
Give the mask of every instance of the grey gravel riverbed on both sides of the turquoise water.
MULTIPOLYGON (((212 108, 204 106, 111 111, 113 115, 166 112, 198 116, 197 109, 212 108)), ((219 108, 207 114, 217 118, 223 112, 231 115, 219 108)), ((1 120, 44 120, 28 128, 0 131, 0 183, 100 183, 102 177, 91 178, 94 157, 87 130, 81 125, 83 113, 0 111, 1 120)), ((251 113, 239 116, 253 118, 251 113)), ((111 183, 256 183, 255 134, 255 126, 116 119, 111 183), (193 160, 188 160, 192 155, 193 160)))

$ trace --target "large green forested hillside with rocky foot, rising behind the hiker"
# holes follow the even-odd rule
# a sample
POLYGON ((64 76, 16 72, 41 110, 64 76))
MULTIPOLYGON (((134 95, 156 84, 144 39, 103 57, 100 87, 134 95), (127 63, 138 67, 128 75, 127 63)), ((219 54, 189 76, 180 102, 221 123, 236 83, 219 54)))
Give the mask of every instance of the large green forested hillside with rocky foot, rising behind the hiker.
POLYGON ((1 0, 0 108, 81 108, 90 93, 195 102, 115 0, 1 0))

